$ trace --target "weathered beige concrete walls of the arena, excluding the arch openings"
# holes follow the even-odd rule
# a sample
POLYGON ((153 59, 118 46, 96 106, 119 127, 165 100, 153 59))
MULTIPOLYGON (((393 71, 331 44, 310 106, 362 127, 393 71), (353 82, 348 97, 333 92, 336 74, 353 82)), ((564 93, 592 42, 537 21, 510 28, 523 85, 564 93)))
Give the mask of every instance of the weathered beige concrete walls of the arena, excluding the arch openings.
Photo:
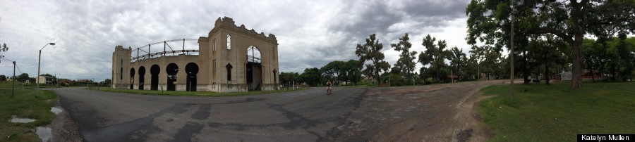
MULTIPOLYGON (((248 91, 246 65, 247 51, 251 46, 255 46, 260 51, 261 67, 259 75, 254 75, 254 82, 261 82, 262 90, 274 90, 279 82, 277 39, 274 34, 265 36, 258 34, 254 30, 247 30, 244 25, 236 26, 231 18, 219 18, 214 24, 214 28, 207 37, 198 39, 198 56, 160 56, 143 60, 135 60, 131 63, 131 49, 123 49, 116 46, 113 52, 113 88, 129 89, 133 84, 133 89, 139 88, 139 68, 145 67, 143 79, 143 89, 150 90, 152 84, 152 65, 159 66, 158 89, 167 89, 166 67, 170 63, 175 63, 179 71, 176 73, 176 91, 186 91, 186 65, 195 63, 198 65, 196 74, 196 91, 217 91, 217 92, 240 92, 248 91), (230 35, 228 49, 227 35, 230 35), (119 60, 119 64, 116 62, 119 60), (123 63, 121 62, 123 60, 123 63), (231 65, 231 80, 228 79, 226 65, 231 65), (121 68, 123 67, 123 72, 121 68), (135 70, 135 75, 130 76, 131 69, 135 70), (119 76, 119 75, 123 76, 119 76), (121 79, 123 77, 123 79, 121 79)), ((257 84, 256 84, 257 85, 257 84)))

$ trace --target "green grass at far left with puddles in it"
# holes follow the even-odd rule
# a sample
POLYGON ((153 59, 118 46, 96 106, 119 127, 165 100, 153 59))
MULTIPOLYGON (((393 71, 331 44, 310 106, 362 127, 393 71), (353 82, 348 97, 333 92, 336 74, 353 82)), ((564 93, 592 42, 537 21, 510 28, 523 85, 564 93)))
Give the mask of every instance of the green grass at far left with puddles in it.
POLYGON ((0 141, 41 141, 32 132, 35 127, 51 124, 55 114, 51 107, 55 105, 57 95, 52 91, 40 91, 35 98, 35 90, 15 89, 15 98, 11 98, 11 88, 0 89, 0 141), (11 115, 36 120, 30 123, 13 123, 11 115))

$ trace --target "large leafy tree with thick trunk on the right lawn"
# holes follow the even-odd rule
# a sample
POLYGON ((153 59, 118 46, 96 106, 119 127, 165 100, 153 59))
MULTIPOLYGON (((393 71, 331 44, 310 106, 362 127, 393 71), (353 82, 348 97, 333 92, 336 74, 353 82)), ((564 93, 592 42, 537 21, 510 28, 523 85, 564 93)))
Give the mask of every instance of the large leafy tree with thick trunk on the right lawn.
MULTIPOLYGON (((468 15, 468 44, 476 39, 498 47, 510 41, 523 41, 526 34, 554 34, 571 46, 572 88, 582 86, 582 42, 585 34, 607 37, 614 33, 635 32, 635 1, 485 1, 472 0, 468 15), (512 21, 512 16, 514 21, 512 21), (512 22, 514 31, 510 30, 512 22), (520 36, 514 36, 514 32, 520 36)), ((514 42, 516 43, 516 42, 514 42)))

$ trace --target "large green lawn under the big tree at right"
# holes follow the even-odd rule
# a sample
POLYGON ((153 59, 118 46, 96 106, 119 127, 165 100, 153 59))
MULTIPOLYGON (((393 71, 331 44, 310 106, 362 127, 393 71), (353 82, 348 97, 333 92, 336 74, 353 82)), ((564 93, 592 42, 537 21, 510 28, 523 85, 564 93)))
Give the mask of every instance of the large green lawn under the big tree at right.
POLYGON ((635 134, 635 83, 571 82, 488 86, 494 95, 480 102, 478 113, 495 133, 490 141, 576 141, 576 134, 635 134), (524 89, 528 91, 523 91, 524 89))

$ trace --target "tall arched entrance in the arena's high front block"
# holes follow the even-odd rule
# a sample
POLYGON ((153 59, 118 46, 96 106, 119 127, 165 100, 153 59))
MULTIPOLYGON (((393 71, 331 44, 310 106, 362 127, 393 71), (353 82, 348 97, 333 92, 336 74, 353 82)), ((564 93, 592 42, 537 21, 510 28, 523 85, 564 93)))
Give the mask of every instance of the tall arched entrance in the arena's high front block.
POLYGON ((249 91, 261 90, 262 65, 260 64, 260 49, 256 46, 247 48, 246 79, 249 91))

